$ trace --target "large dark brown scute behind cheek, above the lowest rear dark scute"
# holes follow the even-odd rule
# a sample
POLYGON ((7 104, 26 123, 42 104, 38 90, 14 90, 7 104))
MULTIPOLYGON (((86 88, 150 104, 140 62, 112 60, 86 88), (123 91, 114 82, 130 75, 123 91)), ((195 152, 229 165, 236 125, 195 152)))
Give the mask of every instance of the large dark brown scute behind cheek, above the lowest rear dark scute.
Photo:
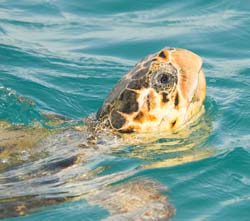
POLYGON ((125 90, 120 96, 117 110, 126 114, 138 111, 138 103, 136 101, 136 97, 136 92, 125 90))

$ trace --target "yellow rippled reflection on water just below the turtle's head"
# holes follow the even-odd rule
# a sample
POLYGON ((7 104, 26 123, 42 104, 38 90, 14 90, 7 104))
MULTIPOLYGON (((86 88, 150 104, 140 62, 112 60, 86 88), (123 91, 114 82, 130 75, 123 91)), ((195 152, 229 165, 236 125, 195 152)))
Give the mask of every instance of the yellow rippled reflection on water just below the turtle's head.
POLYGON ((138 144, 118 154, 143 159, 142 168, 176 166, 209 157, 216 152, 214 147, 205 146, 212 130, 211 120, 205 113, 173 133, 129 135, 127 139, 138 144))

